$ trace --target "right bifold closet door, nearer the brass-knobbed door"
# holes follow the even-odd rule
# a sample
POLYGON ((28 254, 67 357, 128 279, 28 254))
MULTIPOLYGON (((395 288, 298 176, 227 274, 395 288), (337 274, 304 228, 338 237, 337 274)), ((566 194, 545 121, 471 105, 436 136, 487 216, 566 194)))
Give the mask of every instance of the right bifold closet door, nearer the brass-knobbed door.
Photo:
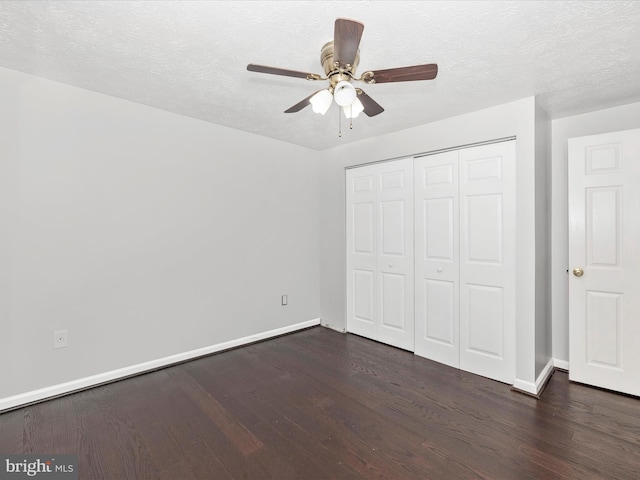
POLYGON ((515 141, 415 160, 415 352, 515 379, 515 141))

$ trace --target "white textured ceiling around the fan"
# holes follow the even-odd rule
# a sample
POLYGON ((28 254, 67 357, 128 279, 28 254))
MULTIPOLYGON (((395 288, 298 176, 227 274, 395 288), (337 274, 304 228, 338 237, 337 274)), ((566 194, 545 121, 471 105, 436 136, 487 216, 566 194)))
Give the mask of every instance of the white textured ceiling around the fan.
POLYGON ((314 149, 537 95, 551 118, 640 101, 639 1, 2 1, 0 66, 314 149), (435 80, 365 86, 384 108, 338 138, 338 110, 284 110, 328 82, 337 17, 365 25, 358 72, 437 63, 435 80))

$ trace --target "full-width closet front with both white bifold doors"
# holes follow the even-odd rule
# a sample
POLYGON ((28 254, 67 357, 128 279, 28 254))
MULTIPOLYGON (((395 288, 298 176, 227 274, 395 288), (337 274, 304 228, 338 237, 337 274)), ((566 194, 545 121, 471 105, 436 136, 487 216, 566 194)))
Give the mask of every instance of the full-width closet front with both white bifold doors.
POLYGON ((515 158, 506 141, 347 170, 348 331, 513 383, 515 158))

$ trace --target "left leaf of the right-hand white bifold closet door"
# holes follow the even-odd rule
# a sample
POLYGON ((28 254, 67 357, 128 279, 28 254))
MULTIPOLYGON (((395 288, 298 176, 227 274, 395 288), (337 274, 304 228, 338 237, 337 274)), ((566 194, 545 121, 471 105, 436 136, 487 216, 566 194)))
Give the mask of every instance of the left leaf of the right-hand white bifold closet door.
POLYGON ((416 354, 459 367, 458 152, 415 159, 416 354))

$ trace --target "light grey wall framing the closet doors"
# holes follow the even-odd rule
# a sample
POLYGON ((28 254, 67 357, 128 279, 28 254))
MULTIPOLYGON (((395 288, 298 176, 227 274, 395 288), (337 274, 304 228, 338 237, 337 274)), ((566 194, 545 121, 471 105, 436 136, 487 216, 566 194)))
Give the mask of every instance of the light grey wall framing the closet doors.
MULTIPOLYGON (((517 268, 535 272, 535 108, 535 99, 530 97, 327 152, 320 166, 320 312, 323 324, 337 329, 346 327, 344 168, 350 165, 517 136, 517 268)), ((354 122, 354 128, 358 128, 357 122, 354 122)), ((524 278, 517 286, 516 377, 533 384, 535 278, 534 275, 524 278)))

